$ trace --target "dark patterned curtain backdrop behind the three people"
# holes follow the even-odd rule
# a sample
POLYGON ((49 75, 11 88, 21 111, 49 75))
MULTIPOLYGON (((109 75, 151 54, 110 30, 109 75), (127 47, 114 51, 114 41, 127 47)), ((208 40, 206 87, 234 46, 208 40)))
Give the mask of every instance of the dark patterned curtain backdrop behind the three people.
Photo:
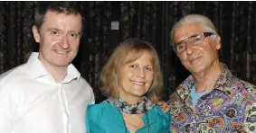
MULTIPOLYGON (((0 2, 0 74, 26 62, 38 44, 33 40, 36 2, 0 2)), ((220 59, 234 75, 256 84, 255 2, 82 2, 85 22, 80 52, 73 64, 100 93, 100 70, 119 42, 130 37, 147 40, 161 59, 165 93, 175 90, 189 72, 170 46, 170 30, 188 13, 208 16, 222 37, 220 59)))

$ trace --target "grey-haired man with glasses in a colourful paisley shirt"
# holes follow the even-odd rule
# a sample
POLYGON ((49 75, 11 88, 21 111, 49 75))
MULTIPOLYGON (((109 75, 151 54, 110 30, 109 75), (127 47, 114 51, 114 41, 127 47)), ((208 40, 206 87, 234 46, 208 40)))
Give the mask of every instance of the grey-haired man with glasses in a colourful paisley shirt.
POLYGON ((171 94, 171 132, 256 132, 256 90, 220 62, 213 22, 190 14, 175 22, 172 45, 191 72, 171 94))

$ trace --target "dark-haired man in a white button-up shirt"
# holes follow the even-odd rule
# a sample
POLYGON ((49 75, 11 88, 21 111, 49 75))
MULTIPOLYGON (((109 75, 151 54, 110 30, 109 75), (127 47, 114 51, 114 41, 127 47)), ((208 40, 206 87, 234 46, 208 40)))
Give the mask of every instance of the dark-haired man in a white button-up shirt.
POLYGON ((39 2, 33 37, 39 52, 0 76, 0 133, 86 133, 94 94, 71 64, 82 30, 76 2, 39 2))

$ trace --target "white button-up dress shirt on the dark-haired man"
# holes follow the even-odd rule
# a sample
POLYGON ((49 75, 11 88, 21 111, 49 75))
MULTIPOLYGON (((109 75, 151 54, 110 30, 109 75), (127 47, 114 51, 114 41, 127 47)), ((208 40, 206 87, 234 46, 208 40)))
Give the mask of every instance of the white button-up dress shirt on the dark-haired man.
POLYGON ((86 133, 91 103, 90 84, 73 65, 58 84, 33 53, 24 65, 0 75, 0 133, 86 133))

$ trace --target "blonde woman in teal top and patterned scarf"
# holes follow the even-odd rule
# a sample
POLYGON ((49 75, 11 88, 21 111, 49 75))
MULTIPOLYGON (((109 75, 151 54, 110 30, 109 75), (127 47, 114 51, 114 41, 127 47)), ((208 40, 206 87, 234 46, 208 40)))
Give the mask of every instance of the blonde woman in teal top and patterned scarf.
POLYGON ((170 113, 156 105, 163 81, 156 50, 150 44, 125 40, 103 67, 100 80, 101 91, 109 98, 88 106, 88 133, 170 132, 170 113))

